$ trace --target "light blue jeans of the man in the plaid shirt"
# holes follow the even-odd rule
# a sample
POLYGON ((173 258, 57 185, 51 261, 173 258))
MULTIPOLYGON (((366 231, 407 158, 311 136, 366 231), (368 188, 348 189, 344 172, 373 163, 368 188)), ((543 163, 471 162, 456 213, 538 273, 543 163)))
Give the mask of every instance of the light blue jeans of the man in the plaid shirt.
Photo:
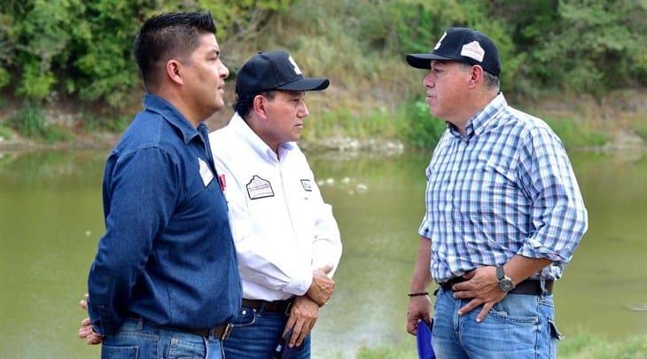
POLYGON ((456 312, 470 300, 456 300, 440 288, 433 314, 432 345, 443 358, 555 358, 557 339, 551 294, 508 294, 481 323, 479 306, 464 316, 456 312))

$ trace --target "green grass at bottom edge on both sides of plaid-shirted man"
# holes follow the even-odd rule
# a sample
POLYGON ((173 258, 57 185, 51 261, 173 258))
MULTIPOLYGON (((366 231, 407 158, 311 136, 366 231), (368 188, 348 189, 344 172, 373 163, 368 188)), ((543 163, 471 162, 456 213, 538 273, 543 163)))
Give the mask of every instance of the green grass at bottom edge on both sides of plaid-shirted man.
MULTIPOLYGON (((580 333, 559 343, 557 356, 562 359, 643 359, 647 357, 647 334, 624 339, 605 339, 589 333, 580 333)), ((346 358, 332 355, 331 358, 346 358)), ((356 359, 412 359, 417 358, 416 343, 411 337, 396 347, 361 348, 356 359)))

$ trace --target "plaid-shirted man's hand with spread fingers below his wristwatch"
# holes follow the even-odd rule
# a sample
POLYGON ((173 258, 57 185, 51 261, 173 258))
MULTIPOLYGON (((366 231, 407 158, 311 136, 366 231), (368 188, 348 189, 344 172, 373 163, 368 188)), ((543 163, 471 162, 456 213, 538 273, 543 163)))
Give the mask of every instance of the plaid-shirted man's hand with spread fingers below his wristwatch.
POLYGON ((464 282, 454 285, 454 298, 472 299, 466 306, 458 309, 458 315, 464 316, 472 309, 483 304, 476 321, 480 322, 487 316, 487 313, 499 301, 505 298, 506 292, 499 289, 498 279, 496 278, 496 268, 492 266, 480 267, 467 272, 464 282))

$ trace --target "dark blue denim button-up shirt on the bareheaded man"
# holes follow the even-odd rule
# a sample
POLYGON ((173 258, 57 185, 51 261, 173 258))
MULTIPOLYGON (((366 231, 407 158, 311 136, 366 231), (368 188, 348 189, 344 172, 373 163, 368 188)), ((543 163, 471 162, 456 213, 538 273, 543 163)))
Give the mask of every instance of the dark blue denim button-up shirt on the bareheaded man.
POLYGON ((105 164, 105 235, 88 288, 96 332, 128 316, 178 328, 230 321, 241 303, 227 204, 207 127, 146 95, 105 164))

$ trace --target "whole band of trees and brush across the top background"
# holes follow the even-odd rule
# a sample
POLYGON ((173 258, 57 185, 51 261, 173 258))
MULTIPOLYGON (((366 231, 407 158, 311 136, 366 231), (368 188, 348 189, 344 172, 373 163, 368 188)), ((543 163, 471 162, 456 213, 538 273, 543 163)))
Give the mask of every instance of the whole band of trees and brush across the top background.
POLYGON ((245 39, 228 43, 228 52, 264 49, 268 34, 277 34, 272 41, 297 51, 306 67, 350 79, 352 97, 367 78, 398 91, 379 77, 380 62, 429 51, 450 26, 476 27, 495 40, 506 91, 597 94, 647 84, 644 0, 5 0, 0 89, 29 104, 56 93, 108 109, 129 104, 139 83, 137 28, 152 14, 186 10, 211 11, 221 42, 245 39))

